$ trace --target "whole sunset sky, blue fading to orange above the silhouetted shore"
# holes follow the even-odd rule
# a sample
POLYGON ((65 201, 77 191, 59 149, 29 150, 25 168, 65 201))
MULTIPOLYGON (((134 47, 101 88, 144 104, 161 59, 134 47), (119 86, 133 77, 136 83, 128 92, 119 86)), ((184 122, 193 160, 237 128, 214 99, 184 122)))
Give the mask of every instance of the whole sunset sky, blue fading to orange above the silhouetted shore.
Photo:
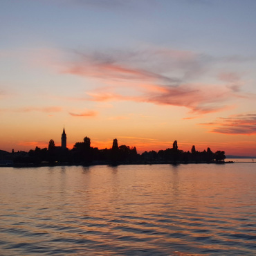
POLYGON ((0 149, 256 156, 255 0, 1 0, 0 149))

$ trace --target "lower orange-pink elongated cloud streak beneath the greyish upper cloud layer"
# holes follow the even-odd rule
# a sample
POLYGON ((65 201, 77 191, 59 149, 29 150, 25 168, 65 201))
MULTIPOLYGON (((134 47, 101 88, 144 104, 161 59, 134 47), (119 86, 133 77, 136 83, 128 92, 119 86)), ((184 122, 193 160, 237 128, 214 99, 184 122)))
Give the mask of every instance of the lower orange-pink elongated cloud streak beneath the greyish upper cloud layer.
POLYGON ((84 100, 111 101, 129 100, 134 102, 150 102, 179 107, 187 107, 193 112, 210 113, 219 111, 226 106, 223 104, 232 91, 227 87, 214 84, 181 84, 181 86, 149 86, 140 87, 139 95, 122 95, 111 91, 95 90, 87 93, 89 98, 84 100))

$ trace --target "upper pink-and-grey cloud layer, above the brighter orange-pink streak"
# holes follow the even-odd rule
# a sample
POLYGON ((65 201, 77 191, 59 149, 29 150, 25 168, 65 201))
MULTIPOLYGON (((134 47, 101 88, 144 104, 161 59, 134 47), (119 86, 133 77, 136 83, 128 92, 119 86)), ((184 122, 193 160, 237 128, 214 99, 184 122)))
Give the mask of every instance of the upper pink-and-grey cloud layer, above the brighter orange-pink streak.
MULTIPOLYGON (((158 84, 178 84, 184 77, 205 72, 205 60, 196 53, 168 48, 143 48, 137 51, 75 52, 62 73, 102 80, 139 80, 158 84), (175 71, 183 71, 177 77, 175 71)), ((204 57, 205 59, 205 57, 204 57)))

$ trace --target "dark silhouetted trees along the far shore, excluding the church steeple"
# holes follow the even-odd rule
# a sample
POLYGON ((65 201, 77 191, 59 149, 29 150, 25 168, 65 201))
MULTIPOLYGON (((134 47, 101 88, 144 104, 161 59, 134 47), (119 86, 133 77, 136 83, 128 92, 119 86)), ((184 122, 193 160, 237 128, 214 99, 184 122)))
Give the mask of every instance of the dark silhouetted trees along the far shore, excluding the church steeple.
MULTIPOLYGON (((12 152, 13 153, 13 152, 12 152)), ((144 152, 138 154, 136 147, 126 145, 118 146, 118 140, 113 140, 111 149, 98 149, 91 147, 91 139, 84 138, 84 141, 75 143, 73 149, 56 147, 53 140, 49 141, 48 149, 30 150, 27 154, 17 154, 14 158, 16 164, 33 165, 91 165, 91 164, 140 164, 140 163, 221 163, 226 158, 225 152, 213 153, 210 148, 203 152, 196 151, 192 146, 191 152, 183 152, 178 149, 175 140, 172 148, 165 150, 144 152)))

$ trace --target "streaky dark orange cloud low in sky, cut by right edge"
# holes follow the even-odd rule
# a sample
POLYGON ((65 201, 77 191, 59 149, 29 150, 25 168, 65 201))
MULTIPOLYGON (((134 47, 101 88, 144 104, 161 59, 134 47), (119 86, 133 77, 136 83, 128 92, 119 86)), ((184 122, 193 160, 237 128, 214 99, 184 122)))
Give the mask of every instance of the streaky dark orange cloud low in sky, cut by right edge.
POLYGON ((248 113, 228 118, 217 118, 215 122, 201 125, 213 127, 211 132, 218 134, 253 135, 256 134, 256 114, 248 113))

